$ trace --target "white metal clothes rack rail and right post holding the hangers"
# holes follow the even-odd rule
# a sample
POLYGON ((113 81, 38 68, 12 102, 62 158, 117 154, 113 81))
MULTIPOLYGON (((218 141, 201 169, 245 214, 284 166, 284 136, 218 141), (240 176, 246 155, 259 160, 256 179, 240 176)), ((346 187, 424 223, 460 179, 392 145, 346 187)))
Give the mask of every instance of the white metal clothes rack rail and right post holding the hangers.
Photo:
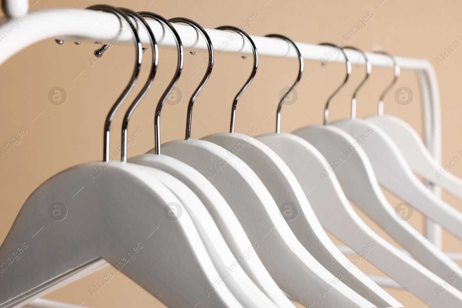
MULTIPOLYGON (((27 0, 4 1, 4 11, 7 16, 23 16, 27 12, 27 0), (21 12, 24 12, 21 15, 21 12)), ((19 19, 4 19, 0 25, 0 65, 12 55, 28 46, 49 38, 63 41, 100 41, 113 44, 133 44, 128 25, 121 25, 121 21, 114 14, 107 12, 89 11, 83 9, 48 9, 27 13, 19 19), (15 21, 19 26, 12 27, 15 21), (125 27, 125 28, 124 28, 125 27)), ((174 48, 175 41, 169 31, 156 21, 147 20, 151 26, 160 48, 174 48)), ((174 24, 180 35, 183 48, 188 51, 206 50, 207 45, 201 35, 190 26, 174 24)), ((249 43, 241 36, 231 32, 206 29, 215 52, 251 54, 249 43)), ((146 31, 138 30, 141 42, 149 44, 146 31)), ((293 48, 284 40, 261 36, 251 36, 255 42, 258 54, 261 56, 296 57, 293 48)), ((296 43, 305 60, 316 60, 330 52, 329 61, 344 62, 340 52, 333 53, 331 48, 296 43)), ((353 50, 345 50, 352 64, 363 64, 365 60, 353 50)), ((393 68, 393 62, 382 54, 366 53, 372 65, 393 68)), ((437 161, 441 160, 441 120, 438 82, 432 65, 426 59, 411 59, 396 57, 401 70, 414 71, 419 80, 422 104, 426 121, 424 121, 424 136, 426 146, 437 161)), ((432 187, 435 193, 440 193, 438 187, 432 187)), ((441 229, 438 225, 427 220, 426 233, 432 241, 441 246, 441 229)))

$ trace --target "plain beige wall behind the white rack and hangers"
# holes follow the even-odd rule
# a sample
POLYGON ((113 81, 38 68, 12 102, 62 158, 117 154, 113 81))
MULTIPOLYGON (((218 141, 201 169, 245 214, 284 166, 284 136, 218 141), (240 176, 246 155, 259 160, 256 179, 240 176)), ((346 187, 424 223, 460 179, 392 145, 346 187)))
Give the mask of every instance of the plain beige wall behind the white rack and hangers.
MULTIPOLYGON (((84 8, 98 4, 94 0, 32 0, 30 11, 55 7, 84 8)), ((152 11, 165 18, 187 17, 203 27, 243 25, 251 35, 263 36, 280 33, 294 41, 320 43, 340 40, 370 12, 373 17, 351 40, 349 45, 365 51, 386 50, 392 54, 428 59, 437 73, 441 93, 443 163, 449 162, 462 150, 460 80, 462 51, 456 48, 444 62, 437 63, 445 48, 455 41, 462 43, 462 21, 459 13, 462 3, 454 0, 107 0, 106 4, 125 6, 135 11, 152 11), (257 15, 252 23, 244 24, 249 16, 257 15)), ((14 34, 12 34, 14 35, 14 34)), ((0 66, 0 145, 6 145, 23 127, 27 133, 7 154, 0 158, 0 241, 8 230, 26 198, 43 181, 73 165, 101 160, 103 151, 103 122, 110 106, 128 82, 133 67, 133 47, 115 46, 96 63, 93 50, 97 45, 64 42, 53 39, 36 43, 13 56, 0 66), (48 93, 60 86, 67 93, 61 106, 50 103, 48 93)), ((120 146, 120 127, 124 109, 141 89, 149 69, 150 50, 140 82, 118 112, 112 128, 111 149, 120 146)), ((205 72, 205 53, 186 53, 184 71, 177 85, 182 93, 178 100, 165 105, 162 116, 162 141, 184 137, 188 98, 205 72)), ((139 155, 154 145, 153 121, 155 105, 173 75, 176 54, 161 50, 156 80, 140 107, 134 113, 129 133, 138 127, 142 133, 133 139, 128 155, 139 155)), ((231 102, 247 79, 252 66, 250 58, 223 54, 216 59, 211 79, 198 97, 194 108, 192 138, 199 139, 210 133, 227 131, 231 102)), ((282 88, 292 84, 297 75, 297 60, 261 57, 253 84, 237 106, 236 131, 258 134, 274 131, 275 115, 282 88), (272 115, 271 115, 272 114, 272 115)), ((297 88, 298 101, 282 109, 282 127, 291 132, 298 127, 322 123, 323 107, 330 93, 344 78, 345 67, 329 63, 305 61, 305 72, 297 88)), ((330 119, 341 119, 350 113, 353 89, 364 77, 364 66, 353 66, 348 85, 335 97, 330 119)), ((377 111, 380 92, 392 80, 393 71, 373 67, 371 78, 358 94, 358 116, 377 111)), ((172 97, 173 98, 173 97, 172 97)), ((423 133, 423 109, 419 94, 419 80, 413 72, 403 71, 385 100, 385 112, 410 123, 423 133), (407 106, 395 102, 398 87, 407 86, 414 100, 407 106)), ((426 120, 425 120, 426 121, 426 120)), ((114 157, 116 158, 116 157, 114 157)), ((120 158, 120 157, 119 157, 120 158)), ((462 165, 452 170, 462 176, 462 165)), ((392 205, 400 200, 388 193, 392 205)), ((462 202, 444 193, 444 200, 462 211, 462 202)), ((377 233, 383 230, 360 213, 377 233)), ((410 223, 423 232, 423 217, 415 213, 410 223)), ((387 235, 383 235, 399 247, 387 235)), ((336 243, 338 241, 334 239, 336 243)), ((445 251, 462 251, 462 243, 444 232, 445 251)), ((358 264, 366 273, 383 275, 367 260, 358 264)), ((89 289, 99 278, 114 268, 106 268, 57 290, 46 298, 73 303, 76 306, 104 307, 164 307, 122 273, 118 273, 96 294, 89 289)), ((387 289, 406 307, 421 307, 420 302, 407 291, 387 289)))

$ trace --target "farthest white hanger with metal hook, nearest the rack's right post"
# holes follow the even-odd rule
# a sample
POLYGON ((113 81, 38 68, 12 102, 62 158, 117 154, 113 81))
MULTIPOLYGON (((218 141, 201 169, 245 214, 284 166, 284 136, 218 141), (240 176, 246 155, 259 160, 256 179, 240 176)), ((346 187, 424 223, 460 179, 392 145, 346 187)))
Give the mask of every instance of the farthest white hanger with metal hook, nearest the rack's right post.
MULTIPOLYGON (((395 84, 400 75, 400 67, 395 61, 395 58, 388 53, 378 52, 388 55, 395 65, 395 78, 389 84, 387 89, 383 91, 378 107, 378 115, 372 115, 365 118, 382 128, 389 137, 395 142, 396 146, 400 149, 401 154, 406 159, 409 167, 417 174, 422 176, 427 181, 441 186, 447 192, 453 194, 459 199, 462 199, 462 179, 450 173, 450 170, 455 167, 452 163, 457 163, 460 157, 457 155, 458 160, 454 159, 450 163, 446 163, 442 167, 430 154, 419 134, 413 129, 412 126, 405 121, 393 116, 383 116, 383 98, 388 90, 395 84)), ((456 157, 455 157, 456 158, 456 157)))

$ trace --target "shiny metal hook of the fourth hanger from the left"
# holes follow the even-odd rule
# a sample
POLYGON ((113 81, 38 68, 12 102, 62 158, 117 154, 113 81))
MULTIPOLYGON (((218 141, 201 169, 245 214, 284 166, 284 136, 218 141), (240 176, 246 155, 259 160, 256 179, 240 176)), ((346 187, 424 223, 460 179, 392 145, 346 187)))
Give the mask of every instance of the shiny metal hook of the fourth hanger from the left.
POLYGON ((201 27, 200 24, 196 23, 194 20, 191 20, 189 18, 170 18, 169 21, 171 23, 184 23, 184 24, 189 24, 192 26, 197 32, 200 32, 202 36, 204 36, 204 39, 207 42, 207 49, 208 49, 208 64, 207 64, 207 70, 205 72, 204 77, 201 80, 201 83, 197 86, 196 90, 194 91, 193 95, 189 99, 188 103, 188 114, 186 115, 186 133, 185 133, 185 140, 189 140, 191 138, 191 121, 193 117, 193 105, 194 102, 201 93, 202 89, 204 88, 205 84, 207 83, 208 78, 210 77, 210 74, 212 73, 212 68, 213 68, 213 46, 212 46, 212 40, 208 36, 206 30, 201 27))

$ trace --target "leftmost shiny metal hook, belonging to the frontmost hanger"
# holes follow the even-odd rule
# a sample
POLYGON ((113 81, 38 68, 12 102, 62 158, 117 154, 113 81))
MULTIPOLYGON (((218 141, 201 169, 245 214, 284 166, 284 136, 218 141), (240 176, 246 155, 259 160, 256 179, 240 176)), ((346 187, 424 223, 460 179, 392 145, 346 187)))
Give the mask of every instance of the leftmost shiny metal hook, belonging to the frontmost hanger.
POLYGON ((134 41, 135 43, 135 49, 136 49, 136 55, 135 55, 135 66, 134 66, 134 71, 132 74, 132 77, 128 83, 128 85, 125 87, 124 91, 122 94, 117 98, 116 103, 111 107, 109 110, 109 113, 106 117, 106 121, 104 122, 104 145, 103 145, 103 162, 109 162, 109 141, 110 141, 110 126, 111 122, 114 119, 114 115, 117 112, 117 109, 122 105, 124 100, 127 98, 128 94, 132 91, 136 80, 138 79, 138 75, 140 73, 140 67, 141 67, 141 59, 142 59, 142 54, 141 54, 141 42, 140 42, 140 37, 138 36, 138 32, 136 31, 134 25, 130 21, 130 18, 120 9, 114 7, 114 6, 107 6, 107 5, 96 5, 96 6, 89 6, 87 7, 88 10, 96 10, 96 11, 104 11, 104 12, 110 12, 115 14, 118 18, 122 20, 125 19, 125 21, 128 23, 130 28, 133 31, 133 36, 134 36, 134 41))

